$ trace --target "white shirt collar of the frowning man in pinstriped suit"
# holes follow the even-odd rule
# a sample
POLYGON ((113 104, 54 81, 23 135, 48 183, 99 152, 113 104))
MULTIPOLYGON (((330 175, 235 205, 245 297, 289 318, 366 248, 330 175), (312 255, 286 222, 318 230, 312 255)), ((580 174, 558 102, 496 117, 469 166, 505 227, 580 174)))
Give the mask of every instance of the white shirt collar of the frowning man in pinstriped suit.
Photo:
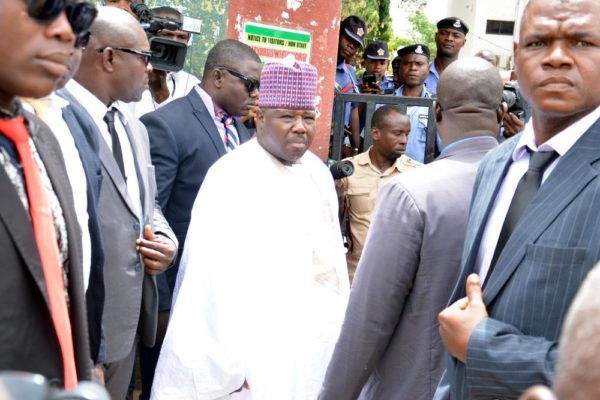
POLYGON ((573 145, 583 136, 588 129, 600 118, 600 106, 585 117, 574 122, 556 135, 552 136, 547 142, 539 147, 535 144, 535 134, 533 123, 530 121, 526 126, 513 150, 513 161, 517 161, 525 156, 527 148, 533 151, 556 151, 560 157, 564 156, 573 145))

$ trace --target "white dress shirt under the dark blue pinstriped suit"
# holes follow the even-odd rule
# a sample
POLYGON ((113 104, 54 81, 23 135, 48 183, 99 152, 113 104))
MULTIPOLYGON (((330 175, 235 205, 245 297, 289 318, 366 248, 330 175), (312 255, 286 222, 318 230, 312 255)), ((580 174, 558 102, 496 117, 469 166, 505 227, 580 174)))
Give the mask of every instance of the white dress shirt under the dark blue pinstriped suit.
POLYGON ((504 219, 508 213, 508 208, 512 198, 517 190, 519 181, 527 172, 529 168, 529 152, 527 148, 532 151, 556 151, 558 157, 546 168, 542 177, 542 184, 546 181, 548 176, 552 173, 556 165, 560 162, 562 156, 564 156, 571 147, 579 140, 581 136, 600 118, 600 107, 581 118, 571 126, 565 128, 561 132, 554 135, 547 142, 537 146, 535 143, 535 135, 533 132, 533 123, 529 123, 525 126, 523 134, 519 138, 519 142, 515 147, 512 159, 513 162, 510 165, 502 186, 498 191, 494 206, 490 211, 483 236, 481 238, 481 245, 477 252, 477 260, 475 261, 475 271, 479 271, 481 281, 485 281, 485 278, 490 269, 492 257, 496 250, 496 244, 500 237, 500 231, 504 224, 504 219))

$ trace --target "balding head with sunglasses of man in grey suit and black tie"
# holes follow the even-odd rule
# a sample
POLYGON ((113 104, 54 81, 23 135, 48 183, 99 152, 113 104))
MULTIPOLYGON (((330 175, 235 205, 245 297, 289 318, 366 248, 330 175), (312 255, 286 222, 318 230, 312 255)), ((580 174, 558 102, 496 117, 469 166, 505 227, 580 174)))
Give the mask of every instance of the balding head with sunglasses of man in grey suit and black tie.
POLYGON ((101 7, 90 28, 75 80, 107 106, 138 101, 148 86, 150 45, 138 20, 116 7, 101 7))

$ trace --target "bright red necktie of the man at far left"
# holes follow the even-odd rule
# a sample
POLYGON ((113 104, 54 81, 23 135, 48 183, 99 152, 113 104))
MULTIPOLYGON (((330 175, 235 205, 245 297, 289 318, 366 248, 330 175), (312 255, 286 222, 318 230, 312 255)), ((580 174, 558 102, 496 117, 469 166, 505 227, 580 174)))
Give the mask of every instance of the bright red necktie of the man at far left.
POLYGON ((0 131, 15 144, 21 159, 35 242, 48 290, 50 314, 62 354, 65 388, 71 389, 77 385, 75 352, 71 321, 65 299, 63 270, 59 262, 59 250, 50 205, 42 186, 40 171, 31 155, 29 133, 23 117, 0 119, 0 131))

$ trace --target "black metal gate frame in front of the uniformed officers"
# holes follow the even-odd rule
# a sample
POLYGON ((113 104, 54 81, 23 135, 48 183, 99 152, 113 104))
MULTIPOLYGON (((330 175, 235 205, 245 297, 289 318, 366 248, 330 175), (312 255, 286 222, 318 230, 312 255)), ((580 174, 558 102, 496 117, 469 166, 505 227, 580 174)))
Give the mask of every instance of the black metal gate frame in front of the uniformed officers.
POLYGON ((404 113, 408 107, 427 107, 427 137, 425 139, 425 163, 435 159, 435 143, 437 126, 433 115, 433 99, 422 97, 402 97, 379 94, 348 94, 338 93, 333 103, 333 138, 331 144, 331 158, 340 160, 342 157, 342 146, 344 142, 344 106, 346 103, 366 103, 365 127, 364 127, 364 150, 368 149, 373 143, 371 137, 371 118, 379 104, 395 105, 404 113))

